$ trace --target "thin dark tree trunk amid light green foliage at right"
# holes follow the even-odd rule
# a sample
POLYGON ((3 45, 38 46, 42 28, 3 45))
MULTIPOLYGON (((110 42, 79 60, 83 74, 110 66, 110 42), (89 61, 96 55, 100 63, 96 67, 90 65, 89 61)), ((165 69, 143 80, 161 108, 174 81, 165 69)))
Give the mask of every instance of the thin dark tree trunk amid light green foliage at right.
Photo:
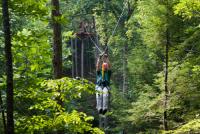
POLYGON ((166 31, 166 48, 165 48, 165 95, 164 95, 164 113, 163 113, 163 126, 164 130, 168 130, 167 124, 167 102, 168 102, 168 62, 169 62, 169 45, 170 45, 170 33, 167 29, 166 31))

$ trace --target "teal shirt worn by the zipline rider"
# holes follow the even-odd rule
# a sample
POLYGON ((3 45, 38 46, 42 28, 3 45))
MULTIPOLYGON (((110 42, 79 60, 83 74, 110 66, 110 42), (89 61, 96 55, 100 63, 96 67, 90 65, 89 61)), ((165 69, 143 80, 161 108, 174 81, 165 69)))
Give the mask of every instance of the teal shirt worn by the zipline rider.
POLYGON ((104 78, 102 78, 102 71, 96 72, 96 84, 99 86, 109 86, 110 85, 111 70, 104 71, 104 78))

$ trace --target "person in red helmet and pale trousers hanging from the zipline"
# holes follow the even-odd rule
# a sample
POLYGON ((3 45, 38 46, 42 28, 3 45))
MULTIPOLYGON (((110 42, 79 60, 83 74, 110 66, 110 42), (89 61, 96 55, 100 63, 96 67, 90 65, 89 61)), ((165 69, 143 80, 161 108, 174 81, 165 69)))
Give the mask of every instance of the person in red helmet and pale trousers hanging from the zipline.
POLYGON ((111 77, 111 65, 107 54, 101 55, 97 60, 96 77, 96 108, 100 114, 105 114, 108 110, 111 77))

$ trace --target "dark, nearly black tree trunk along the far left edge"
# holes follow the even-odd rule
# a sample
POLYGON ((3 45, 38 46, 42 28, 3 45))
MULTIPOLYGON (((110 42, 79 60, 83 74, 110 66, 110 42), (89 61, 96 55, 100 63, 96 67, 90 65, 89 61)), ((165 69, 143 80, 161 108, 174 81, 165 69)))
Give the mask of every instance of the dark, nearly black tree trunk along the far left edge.
POLYGON ((8 0, 2 0, 3 28, 5 38, 5 59, 6 59, 6 87, 7 87, 7 134, 14 133, 13 120, 13 64, 11 51, 10 18, 8 12, 8 0))

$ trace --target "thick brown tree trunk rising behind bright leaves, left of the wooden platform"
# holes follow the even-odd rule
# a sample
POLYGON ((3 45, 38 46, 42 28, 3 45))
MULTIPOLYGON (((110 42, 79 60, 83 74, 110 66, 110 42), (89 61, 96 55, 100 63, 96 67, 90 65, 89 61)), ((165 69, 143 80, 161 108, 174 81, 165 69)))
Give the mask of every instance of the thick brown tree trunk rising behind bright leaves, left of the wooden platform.
POLYGON ((53 20, 53 69, 54 78, 62 77, 62 35, 61 24, 57 19, 61 17, 59 12, 59 0, 52 0, 52 20, 53 20))

